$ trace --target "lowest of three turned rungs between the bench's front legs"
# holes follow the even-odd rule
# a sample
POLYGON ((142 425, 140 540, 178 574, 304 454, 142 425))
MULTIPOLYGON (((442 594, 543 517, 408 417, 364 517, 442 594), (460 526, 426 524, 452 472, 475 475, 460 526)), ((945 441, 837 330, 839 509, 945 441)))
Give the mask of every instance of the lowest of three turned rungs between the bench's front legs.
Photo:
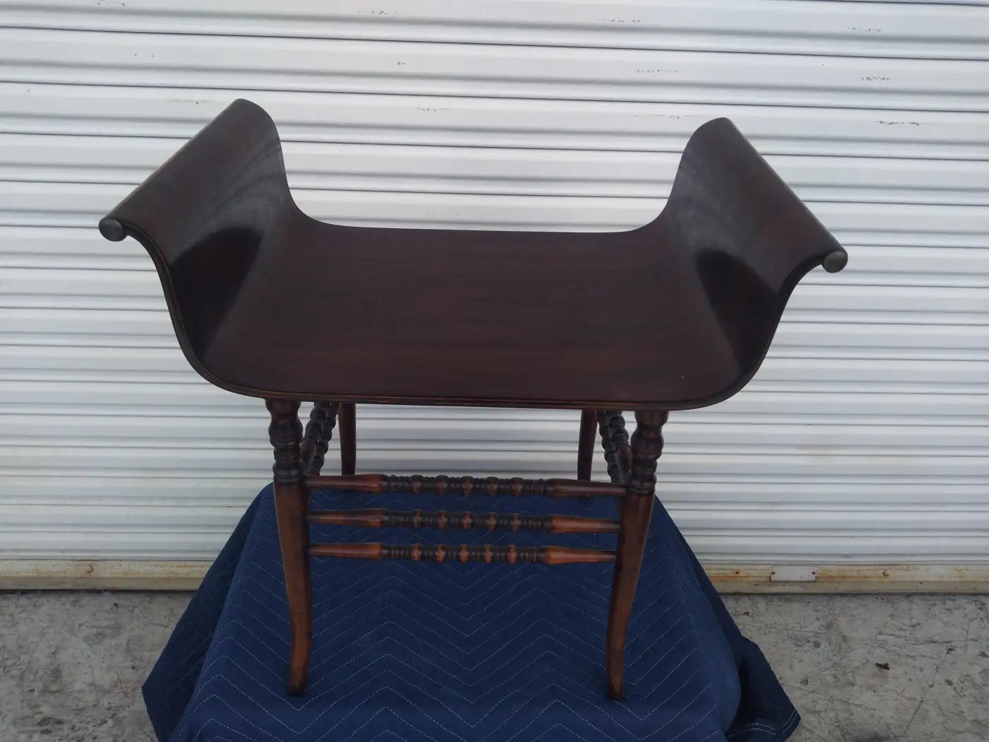
POLYGON ((506 564, 592 564, 613 562, 613 551, 570 549, 564 546, 445 546, 443 544, 319 543, 313 556, 343 559, 410 559, 420 561, 504 562, 506 564))

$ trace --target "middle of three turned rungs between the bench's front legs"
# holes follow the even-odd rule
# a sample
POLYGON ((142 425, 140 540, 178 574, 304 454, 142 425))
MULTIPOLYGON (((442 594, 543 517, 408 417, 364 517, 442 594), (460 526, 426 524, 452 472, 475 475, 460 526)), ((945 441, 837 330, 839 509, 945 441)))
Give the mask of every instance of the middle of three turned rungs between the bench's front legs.
POLYGON ((576 515, 524 515, 517 512, 447 512, 446 510, 313 510, 311 523, 363 528, 484 528, 542 530, 547 533, 617 533, 619 522, 576 515))

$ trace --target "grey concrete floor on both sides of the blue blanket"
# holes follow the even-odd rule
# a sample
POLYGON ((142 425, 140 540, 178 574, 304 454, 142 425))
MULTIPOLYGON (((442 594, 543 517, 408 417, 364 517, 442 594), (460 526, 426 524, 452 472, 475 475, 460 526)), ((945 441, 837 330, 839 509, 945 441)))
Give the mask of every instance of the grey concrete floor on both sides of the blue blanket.
MULTIPOLYGON (((0 742, 153 740, 139 687, 188 600, 0 594, 0 742)), ((989 599, 726 602, 803 715, 794 742, 989 740, 989 599)))

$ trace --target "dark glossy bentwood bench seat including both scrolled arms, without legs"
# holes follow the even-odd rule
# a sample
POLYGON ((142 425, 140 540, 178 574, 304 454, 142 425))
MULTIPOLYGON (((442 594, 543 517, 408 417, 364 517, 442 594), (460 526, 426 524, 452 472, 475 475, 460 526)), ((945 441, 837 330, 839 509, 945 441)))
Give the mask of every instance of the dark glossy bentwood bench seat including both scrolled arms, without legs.
POLYGON ((209 381, 347 403, 710 405, 759 368, 797 281, 848 257, 727 119, 638 229, 399 230, 303 214, 273 122, 242 100, 100 231, 147 248, 209 381), (621 290, 587 301, 601 286, 621 290))

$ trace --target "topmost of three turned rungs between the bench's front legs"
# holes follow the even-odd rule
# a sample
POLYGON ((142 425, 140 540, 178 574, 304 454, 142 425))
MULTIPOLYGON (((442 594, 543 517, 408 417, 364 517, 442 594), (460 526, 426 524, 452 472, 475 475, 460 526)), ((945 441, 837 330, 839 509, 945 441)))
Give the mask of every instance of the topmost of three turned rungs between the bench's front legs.
POLYGON ((549 498, 625 497, 621 485, 578 482, 574 479, 498 479, 497 477, 397 477, 388 474, 356 474, 352 477, 307 477, 311 490, 353 490, 375 495, 407 492, 412 495, 511 495, 549 498))

